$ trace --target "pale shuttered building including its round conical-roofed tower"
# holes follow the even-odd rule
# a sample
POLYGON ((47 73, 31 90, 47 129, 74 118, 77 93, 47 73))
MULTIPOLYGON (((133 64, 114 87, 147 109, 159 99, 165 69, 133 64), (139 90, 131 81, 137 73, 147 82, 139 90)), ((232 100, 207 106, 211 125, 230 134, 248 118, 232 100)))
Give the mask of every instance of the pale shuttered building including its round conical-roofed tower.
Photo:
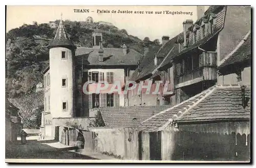
POLYGON ((137 68, 142 54, 125 44, 122 48, 103 48, 102 33, 97 30, 92 40, 92 48, 77 48, 61 20, 54 40, 48 45, 50 59, 42 70, 45 110, 40 128, 46 137, 54 137, 56 127, 67 122, 88 127, 98 107, 124 106, 123 94, 96 94, 95 87, 102 81, 108 81, 108 89, 116 81, 123 85, 137 68), (85 83, 88 85, 84 86, 85 83), (84 87, 94 93, 84 94, 84 87))

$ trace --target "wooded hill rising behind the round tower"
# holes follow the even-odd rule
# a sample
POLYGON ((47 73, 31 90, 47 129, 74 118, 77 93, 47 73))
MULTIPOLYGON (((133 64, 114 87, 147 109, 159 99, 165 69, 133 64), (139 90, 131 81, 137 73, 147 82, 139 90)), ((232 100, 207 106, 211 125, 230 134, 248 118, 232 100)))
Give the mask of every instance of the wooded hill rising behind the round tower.
MULTIPOLYGON (((59 21, 54 22, 58 25, 59 21)), ((147 37, 140 40, 111 24, 70 20, 66 20, 64 24, 77 47, 92 47, 92 32, 96 29, 103 33, 102 44, 105 48, 120 48, 125 42, 127 47, 143 53, 145 41, 159 46, 157 39, 154 42, 147 37)), ((20 108, 26 120, 35 116, 35 109, 43 108, 43 93, 35 93, 35 86, 38 82, 43 82, 41 70, 49 60, 46 46, 54 38, 56 29, 57 27, 51 28, 48 23, 24 24, 6 34, 6 93, 10 101, 20 108)))

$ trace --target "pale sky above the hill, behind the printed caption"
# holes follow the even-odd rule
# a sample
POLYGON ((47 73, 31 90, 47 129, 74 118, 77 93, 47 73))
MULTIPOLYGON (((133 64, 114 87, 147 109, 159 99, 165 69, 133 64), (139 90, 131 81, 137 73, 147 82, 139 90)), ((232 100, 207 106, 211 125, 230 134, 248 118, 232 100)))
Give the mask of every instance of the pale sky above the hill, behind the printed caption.
MULTIPOLYGON (((205 10, 209 6, 205 6, 205 10)), ((118 29, 125 29, 128 34, 140 39, 149 37, 152 41, 162 36, 176 36, 182 31, 182 22, 186 19, 197 20, 196 6, 7 6, 6 31, 33 21, 48 23, 60 19, 71 21, 85 21, 91 16, 94 21, 111 22, 118 29), (90 13, 75 13, 74 9, 89 9, 90 13), (97 10, 109 10, 110 13, 97 13, 97 10), (129 10, 133 14, 111 13, 112 10, 129 10), (94 12, 91 12, 94 11, 94 12), (144 11, 144 14, 135 14, 134 11, 144 11), (153 11, 146 14, 145 11, 153 11), (162 14, 155 14, 162 11, 162 14), (163 11, 192 12, 190 14, 163 14, 163 11)))

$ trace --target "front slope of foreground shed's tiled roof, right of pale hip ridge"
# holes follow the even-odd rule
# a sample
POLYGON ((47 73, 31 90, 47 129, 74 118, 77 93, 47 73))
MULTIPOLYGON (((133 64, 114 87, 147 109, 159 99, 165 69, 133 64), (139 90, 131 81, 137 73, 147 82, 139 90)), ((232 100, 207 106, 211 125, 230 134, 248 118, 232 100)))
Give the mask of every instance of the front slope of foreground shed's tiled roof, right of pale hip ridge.
MULTIPOLYGON (((245 96, 250 98, 251 88, 245 89, 245 96)), ((199 104, 187 111, 177 121, 204 121, 225 119, 250 119, 250 100, 244 109, 241 105, 241 88, 217 87, 214 92, 199 104)))

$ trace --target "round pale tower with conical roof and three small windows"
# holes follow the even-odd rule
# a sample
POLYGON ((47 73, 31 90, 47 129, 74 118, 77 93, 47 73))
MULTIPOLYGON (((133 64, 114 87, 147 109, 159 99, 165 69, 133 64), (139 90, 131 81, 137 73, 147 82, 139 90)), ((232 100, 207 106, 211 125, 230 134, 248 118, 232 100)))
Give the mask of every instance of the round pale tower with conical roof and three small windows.
POLYGON ((75 116, 75 50, 76 46, 68 37, 62 19, 56 35, 47 46, 50 61, 50 106, 53 118, 75 116))

